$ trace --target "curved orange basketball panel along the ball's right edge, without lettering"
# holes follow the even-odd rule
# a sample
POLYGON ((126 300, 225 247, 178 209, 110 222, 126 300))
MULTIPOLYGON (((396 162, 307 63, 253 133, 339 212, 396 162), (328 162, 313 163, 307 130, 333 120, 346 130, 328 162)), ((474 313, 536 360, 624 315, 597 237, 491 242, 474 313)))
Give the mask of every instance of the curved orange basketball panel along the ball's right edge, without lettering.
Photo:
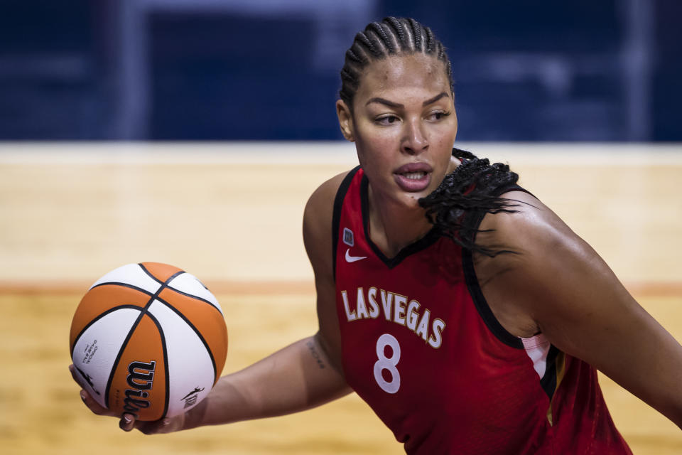
POLYGON ((197 328, 206 341, 215 360, 215 380, 220 378, 227 357, 227 327, 218 309, 205 301, 193 299, 166 288, 158 295, 180 311, 197 328))

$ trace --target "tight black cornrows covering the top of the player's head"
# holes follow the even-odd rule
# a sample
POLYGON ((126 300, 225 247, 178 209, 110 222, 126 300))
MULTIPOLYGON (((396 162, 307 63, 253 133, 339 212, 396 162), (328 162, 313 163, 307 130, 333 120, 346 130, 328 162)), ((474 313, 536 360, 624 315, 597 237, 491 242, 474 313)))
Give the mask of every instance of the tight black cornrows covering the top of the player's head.
POLYGON ((445 65, 445 74, 454 93, 452 65, 445 46, 440 43, 431 28, 423 26, 413 18, 386 17, 381 22, 372 22, 355 35, 346 51, 341 70, 339 97, 353 109, 353 97, 360 86, 364 68, 375 60, 381 60, 396 53, 424 53, 433 55, 445 65))

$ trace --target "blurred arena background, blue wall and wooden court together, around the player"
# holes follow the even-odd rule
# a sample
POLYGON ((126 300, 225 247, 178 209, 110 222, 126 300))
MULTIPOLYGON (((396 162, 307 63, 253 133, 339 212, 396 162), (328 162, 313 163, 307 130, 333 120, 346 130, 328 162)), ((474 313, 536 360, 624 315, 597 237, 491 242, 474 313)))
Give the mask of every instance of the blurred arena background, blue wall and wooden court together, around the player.
MULTIPOLYGON (((0 451, 398 454, 357 397, 163 437, 88 412, 67 365, 80 296, 121 264, 183 267, 230 334, 225 372, 316 329, 301 219, 354 166, 333 102, 354 33, 431 26, 459 146, 509 162, 682 340, 676 0, 0 0, 0 451)), ((655 374, 655 372, 652 372, 655 374)), ((634 454, 682 434, 601 377, 634 454)))

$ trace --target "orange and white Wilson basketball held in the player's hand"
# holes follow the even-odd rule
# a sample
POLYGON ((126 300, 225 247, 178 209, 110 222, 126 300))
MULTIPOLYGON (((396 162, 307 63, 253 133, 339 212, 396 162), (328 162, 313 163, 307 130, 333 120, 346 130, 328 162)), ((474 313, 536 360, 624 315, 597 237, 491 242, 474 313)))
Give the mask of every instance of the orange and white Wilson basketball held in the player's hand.
POLYGON ((192 274, 127 264, 81 299, 70 352, 100 405, 156 420, 190 410, 210 392, 227 356, 227 327, 217 299, 192 274))

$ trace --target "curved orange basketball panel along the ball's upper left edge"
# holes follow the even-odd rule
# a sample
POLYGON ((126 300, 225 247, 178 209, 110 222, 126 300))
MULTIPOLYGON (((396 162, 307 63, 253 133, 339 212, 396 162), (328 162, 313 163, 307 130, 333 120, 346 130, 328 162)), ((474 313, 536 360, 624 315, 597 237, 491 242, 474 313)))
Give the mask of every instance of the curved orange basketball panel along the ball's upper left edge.
POLYGON ((73 349, 76 337, 85 326, 100 314, 121 305, 144 307, 148 301, 148 294, 136 289, 120 286, 119 284, 102 284, 102 286, 90 289, 80 300, 80 304, 78 304, 73 315, 69 336, 69 349, 73 349))

